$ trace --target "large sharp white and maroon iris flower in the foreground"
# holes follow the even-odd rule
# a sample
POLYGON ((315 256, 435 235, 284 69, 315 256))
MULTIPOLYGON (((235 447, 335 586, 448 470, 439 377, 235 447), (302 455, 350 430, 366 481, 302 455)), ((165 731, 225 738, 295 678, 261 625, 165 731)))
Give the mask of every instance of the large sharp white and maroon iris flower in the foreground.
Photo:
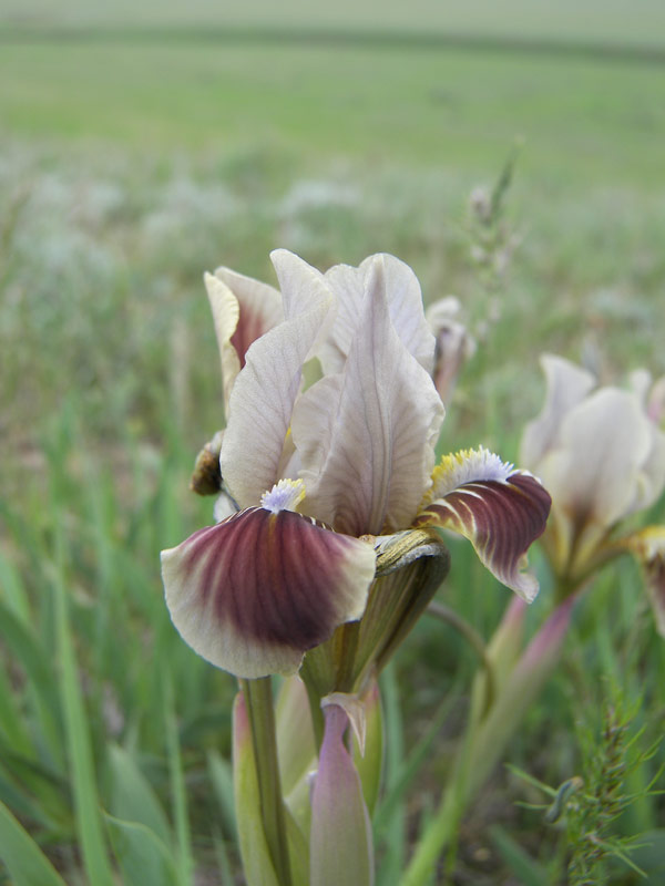
POLYGON ((283 249, 272 260, 280 291, 226 268, 206 275, 224 493, 221 522, 162 553, 182 637, 242 678, 293 673, 362 619, 391 549, 400 566, 440 552, 436 527, 533 599, 523 558, 550 496, 482 447, 436 466, 444 410, 413 271, 389 255, 326 274, 283 249))

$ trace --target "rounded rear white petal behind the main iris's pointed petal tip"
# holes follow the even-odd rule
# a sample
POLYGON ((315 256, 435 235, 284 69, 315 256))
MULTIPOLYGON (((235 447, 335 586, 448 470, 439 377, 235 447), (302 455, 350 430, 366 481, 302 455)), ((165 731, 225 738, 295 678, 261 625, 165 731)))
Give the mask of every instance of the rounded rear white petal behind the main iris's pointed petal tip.
POLYGON ((420 284, 408 265, 385 253, 369 256, 358 268, 335 265, 326 271, 326 282, 338 307, 330 334, 320 347, 324 371, 332 374, 344 369, 377 270, 397 334, 409 353, 431 374, 436 342, 424 319, 420 284))

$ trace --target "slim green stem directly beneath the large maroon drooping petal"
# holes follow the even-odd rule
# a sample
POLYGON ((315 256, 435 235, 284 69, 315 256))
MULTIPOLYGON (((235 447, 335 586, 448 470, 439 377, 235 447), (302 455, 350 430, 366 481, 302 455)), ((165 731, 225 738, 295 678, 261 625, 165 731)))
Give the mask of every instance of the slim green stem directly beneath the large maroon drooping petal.
POLYGON ((252 746, 266 842, 279 886, 291 886, 286 816, 277 763, 272 681, 269 677, 262 677, 258 680, 241 680, 241 687, 252 731, 252 746))

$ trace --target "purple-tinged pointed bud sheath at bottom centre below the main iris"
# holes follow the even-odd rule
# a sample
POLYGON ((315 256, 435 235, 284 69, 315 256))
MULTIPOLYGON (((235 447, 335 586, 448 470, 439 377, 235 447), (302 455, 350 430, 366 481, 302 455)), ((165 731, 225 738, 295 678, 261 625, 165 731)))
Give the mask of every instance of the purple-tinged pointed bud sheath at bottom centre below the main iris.
POLYGON ((360 777, 344 743, 346 712, 324 709, 326 727, 311 793, 310 886, 371 886, 371 825, 360 777))

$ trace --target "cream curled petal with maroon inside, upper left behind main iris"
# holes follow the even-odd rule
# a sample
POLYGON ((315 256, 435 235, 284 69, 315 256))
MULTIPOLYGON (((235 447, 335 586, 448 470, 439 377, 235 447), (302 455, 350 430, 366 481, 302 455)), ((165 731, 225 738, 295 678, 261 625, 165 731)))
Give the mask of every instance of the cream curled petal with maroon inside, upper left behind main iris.
POLYGON ((282 297, 267 284, 253 280, 229 268, 204 275, 224 383, 224 408, 249 346, 284 319, 282 297))

